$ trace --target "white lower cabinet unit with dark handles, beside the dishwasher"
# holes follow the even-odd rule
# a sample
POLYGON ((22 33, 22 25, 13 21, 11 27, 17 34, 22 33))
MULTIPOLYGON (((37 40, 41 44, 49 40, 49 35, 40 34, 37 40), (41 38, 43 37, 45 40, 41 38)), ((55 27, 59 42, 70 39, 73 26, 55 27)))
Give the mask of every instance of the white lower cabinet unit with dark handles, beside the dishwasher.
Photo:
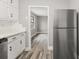
MULTIPOLYGON (((8 59, 16 59, 25 49, 25 36, 13 37, 13 41, 8 44, 8 59)), ((12 39, 12 38, 11 38, 12 39)))

